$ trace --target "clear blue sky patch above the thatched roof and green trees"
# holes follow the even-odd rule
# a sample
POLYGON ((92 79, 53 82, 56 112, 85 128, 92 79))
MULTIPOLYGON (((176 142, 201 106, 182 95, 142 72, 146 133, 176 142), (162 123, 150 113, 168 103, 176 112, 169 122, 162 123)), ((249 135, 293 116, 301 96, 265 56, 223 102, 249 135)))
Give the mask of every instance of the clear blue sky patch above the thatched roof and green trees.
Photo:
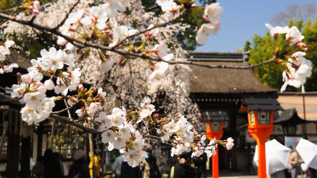
POLYGON ((245 41, 252 40, 255 33, 267 32, 265 23, 290 4, 314 3, 317 0, 217 0, 223 7, 221 28, 217 36, 209 36, 208 43, 196 51, 236 51, 245 41))

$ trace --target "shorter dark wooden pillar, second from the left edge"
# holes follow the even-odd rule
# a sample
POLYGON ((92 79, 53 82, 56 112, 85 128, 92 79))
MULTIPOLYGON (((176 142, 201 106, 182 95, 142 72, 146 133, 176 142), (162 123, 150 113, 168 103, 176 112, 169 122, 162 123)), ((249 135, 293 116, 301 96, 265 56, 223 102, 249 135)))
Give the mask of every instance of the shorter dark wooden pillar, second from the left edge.
POLYGON ((30 178, 31 137, 22 138, 21 144, 21 175, 30 178))

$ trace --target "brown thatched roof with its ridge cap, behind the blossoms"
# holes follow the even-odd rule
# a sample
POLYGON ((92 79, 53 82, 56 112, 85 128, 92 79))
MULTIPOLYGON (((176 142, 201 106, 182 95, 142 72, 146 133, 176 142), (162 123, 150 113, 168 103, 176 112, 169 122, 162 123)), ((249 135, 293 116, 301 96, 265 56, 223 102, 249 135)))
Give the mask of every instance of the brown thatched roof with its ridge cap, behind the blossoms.
MULTIPOLYGON (((242 53, 190 52, 188 60, 210 65, 245 66, 242 53)), ((252 69, 219 69, 191 65, 191 93, 270 93, 252 69)))

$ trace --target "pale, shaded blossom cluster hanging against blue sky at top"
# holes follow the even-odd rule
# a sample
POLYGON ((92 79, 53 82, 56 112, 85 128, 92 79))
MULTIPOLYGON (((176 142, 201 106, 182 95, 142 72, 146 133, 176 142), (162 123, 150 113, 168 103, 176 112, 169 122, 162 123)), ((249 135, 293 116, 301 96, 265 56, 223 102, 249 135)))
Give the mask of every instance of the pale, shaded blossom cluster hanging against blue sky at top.
POLYGON ((208 23, 204 23, 197 31, 196 42, 199 45, 207 44, 207 35, 217 35, 220 29, 220 14, 223 8, 219 2, 206 5, 203 19, 208 23))

